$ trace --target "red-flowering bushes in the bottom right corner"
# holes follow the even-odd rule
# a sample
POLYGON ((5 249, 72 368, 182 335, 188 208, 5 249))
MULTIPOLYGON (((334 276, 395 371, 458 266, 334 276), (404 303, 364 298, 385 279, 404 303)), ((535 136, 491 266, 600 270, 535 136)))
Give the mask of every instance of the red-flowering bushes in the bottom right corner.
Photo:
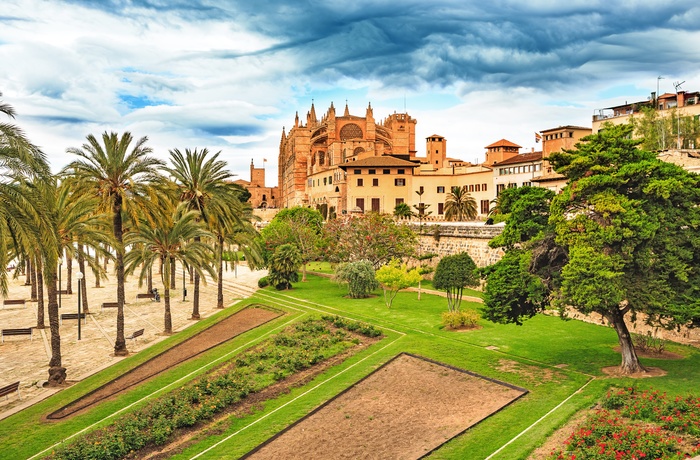
POLYGON ((700 452, 700 398, 611 390, 564 445, 550 459, 691 458, 700 452))

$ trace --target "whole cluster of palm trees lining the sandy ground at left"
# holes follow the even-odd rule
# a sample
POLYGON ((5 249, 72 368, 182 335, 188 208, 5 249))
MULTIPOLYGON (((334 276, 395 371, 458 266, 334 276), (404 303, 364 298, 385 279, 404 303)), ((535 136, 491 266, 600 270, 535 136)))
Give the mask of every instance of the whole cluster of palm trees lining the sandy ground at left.
MULTIPOLYGON (((0 94, 1 96, 1 94, 0 94)), ((0 101, 0 112, 14 118, 0 101)), ((156 268, 164 287, 164 332, 172 332, 170 289, 175 267, 193 275, 192 318, 199 319, 199 283, 218 279, 217 306, 223 308, 223 254, 226 248, 260 260, 256 230, 244 190, 219 153, 207 149, 170 151, 170 164, 153 157, 148 139, 130 133, 87 136, 77 158, 52 174, 46 156, 13 124, 0 122, 0 290, 7 295, 8 272, 15 263, 36 274, 37 327, 44 326, 43 291, 51 331, 49 382, 65 380, 57 301, 57 274, 64 259, 87 263, 97 282, 113 260, 117 279, 117 335, 114 353, 128 354, 124 336, 125 277, 138 273, 139 284, 156 268), (155 267, 154 267, 155 266, 155 267)), ((15 272, 15 275, 19 270, 15 272)), ((32 280, 34 277, 32 276, 32 280)), ((82 283, 85 289, 85 283, 82 283)), ((87 296, 83 291, 87 311, 87 296)))

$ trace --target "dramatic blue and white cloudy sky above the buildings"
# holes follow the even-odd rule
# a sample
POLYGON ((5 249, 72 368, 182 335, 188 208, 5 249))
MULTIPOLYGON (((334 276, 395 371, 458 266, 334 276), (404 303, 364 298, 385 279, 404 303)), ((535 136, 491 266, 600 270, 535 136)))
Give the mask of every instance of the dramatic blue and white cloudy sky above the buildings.
MULTIPOLYGON (((0 91, 55 170, 87 134, 222 151, 276 182, 282 127, 334 102, 418 119, 448 154, 590 126, 596 109, 700 90, 700 7, 675 0, 3 0, 0 91), (658 80, 657 77, 663 79, 658 80)), ((4 120, 0 120, 4 121, 4 120)))

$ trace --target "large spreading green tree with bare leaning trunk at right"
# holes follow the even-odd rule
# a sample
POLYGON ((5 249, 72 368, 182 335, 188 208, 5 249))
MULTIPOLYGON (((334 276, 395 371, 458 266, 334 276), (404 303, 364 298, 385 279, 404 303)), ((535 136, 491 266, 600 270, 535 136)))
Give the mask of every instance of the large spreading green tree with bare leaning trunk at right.
MULTIPOLYGON (((615 328, 624 373, 644 371, 626 315, 667 328, 700 325, 700 176, 638 149, 632 129, 607 125, 550 157, 569 184, 551 201, 544 235, 523 245, 531 253, 527 271, 556 306, 599 313, 615 328)), ((487 291, 507 286, 488 278, 487 291)), ((489 316, 516 323, 531 316, 545 304, 533 287, 511 307, 485 303, 489 316)))

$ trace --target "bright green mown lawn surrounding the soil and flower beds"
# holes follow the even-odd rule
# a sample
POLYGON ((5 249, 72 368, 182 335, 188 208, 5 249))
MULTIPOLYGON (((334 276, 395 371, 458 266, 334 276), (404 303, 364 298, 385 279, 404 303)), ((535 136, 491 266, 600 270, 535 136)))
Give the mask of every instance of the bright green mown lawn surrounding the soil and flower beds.
MULTIPOLYGON (((537 316, 523 326, 495 325, 482 321, 478 330, 451 332, 444 330, 440 324, 441 314, 446 310, 446 299, 442 297, 423 293, 418 301, 417 293, 402 292, 398 294, 393 307, 387 309, 381 291, 369 299, 347 299, 345 294, 345 287, 311 275, 308 282, 297 283, 291 291, 261 290, 250 299, 251 302, 267 304, 288 314, 82 415, 64 422, 46 423, 41 420, 42 415, 93 390, 165 347, 184 340, 222 315, 233 314, 243 305, 227 309, 217 317, 202 321, 0 421, 0 451, 17 452, 16 458, 31 457, 86 427, 106 423, 101 422, 105 417, 129 404, 140 404, 139 401, 148 395, 184 376, 190 375, 183 379, 189 380, 213 366, 213 360, 227 354, 234 355, 279 330, 284 324, 318 313, 336 313, 370 322, 382 328, 386 337, 303 387, 275 401, 266 402, 261 410, 221 423, 215 435, 201 436, 198 442, 175 458, 192 458, 202 452, 199 458, 238 458, 400 352, 422 355, 530 391, 524 398, 450 441, 431 456, 439 459, 527 458, 548 434, 580 409, 590 407, 611 385, 654 387, 681 395, 700 388, 700 352, 693 348, 680 345, 670 347, 670 351, 686 356, 682 360, 643 360, 646 365, 665 369, 667 375, 664 377, 613 379, 601 372, 603 367, 619 364, 619 355, 613 350, 617 338, 610 328, 537 316)), ((462 304, 465 309, 478 306, 471 302, 462 304)))

